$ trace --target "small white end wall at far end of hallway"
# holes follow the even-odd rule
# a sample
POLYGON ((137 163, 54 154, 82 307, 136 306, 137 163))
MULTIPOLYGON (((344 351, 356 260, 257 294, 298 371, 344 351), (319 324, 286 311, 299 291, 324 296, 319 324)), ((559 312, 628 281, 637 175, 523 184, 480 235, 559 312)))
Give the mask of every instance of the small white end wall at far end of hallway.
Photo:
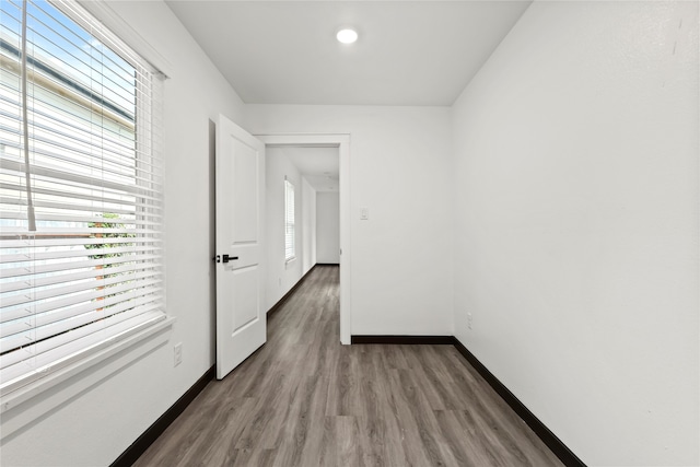
POLYGON ((318 262, 340 264, 340 194, 316 194, 316 256, 318 262))

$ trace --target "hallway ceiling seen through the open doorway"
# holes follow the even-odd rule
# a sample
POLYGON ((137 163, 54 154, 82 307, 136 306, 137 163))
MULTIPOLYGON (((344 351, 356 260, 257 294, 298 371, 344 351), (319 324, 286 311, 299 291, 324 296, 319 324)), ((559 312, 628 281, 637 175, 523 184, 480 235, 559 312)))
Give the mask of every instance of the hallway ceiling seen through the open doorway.
POLYGON ((338 148, 273 147, 268 151, 280 151, 288 156, 316 191, 339 190, 338 148))

